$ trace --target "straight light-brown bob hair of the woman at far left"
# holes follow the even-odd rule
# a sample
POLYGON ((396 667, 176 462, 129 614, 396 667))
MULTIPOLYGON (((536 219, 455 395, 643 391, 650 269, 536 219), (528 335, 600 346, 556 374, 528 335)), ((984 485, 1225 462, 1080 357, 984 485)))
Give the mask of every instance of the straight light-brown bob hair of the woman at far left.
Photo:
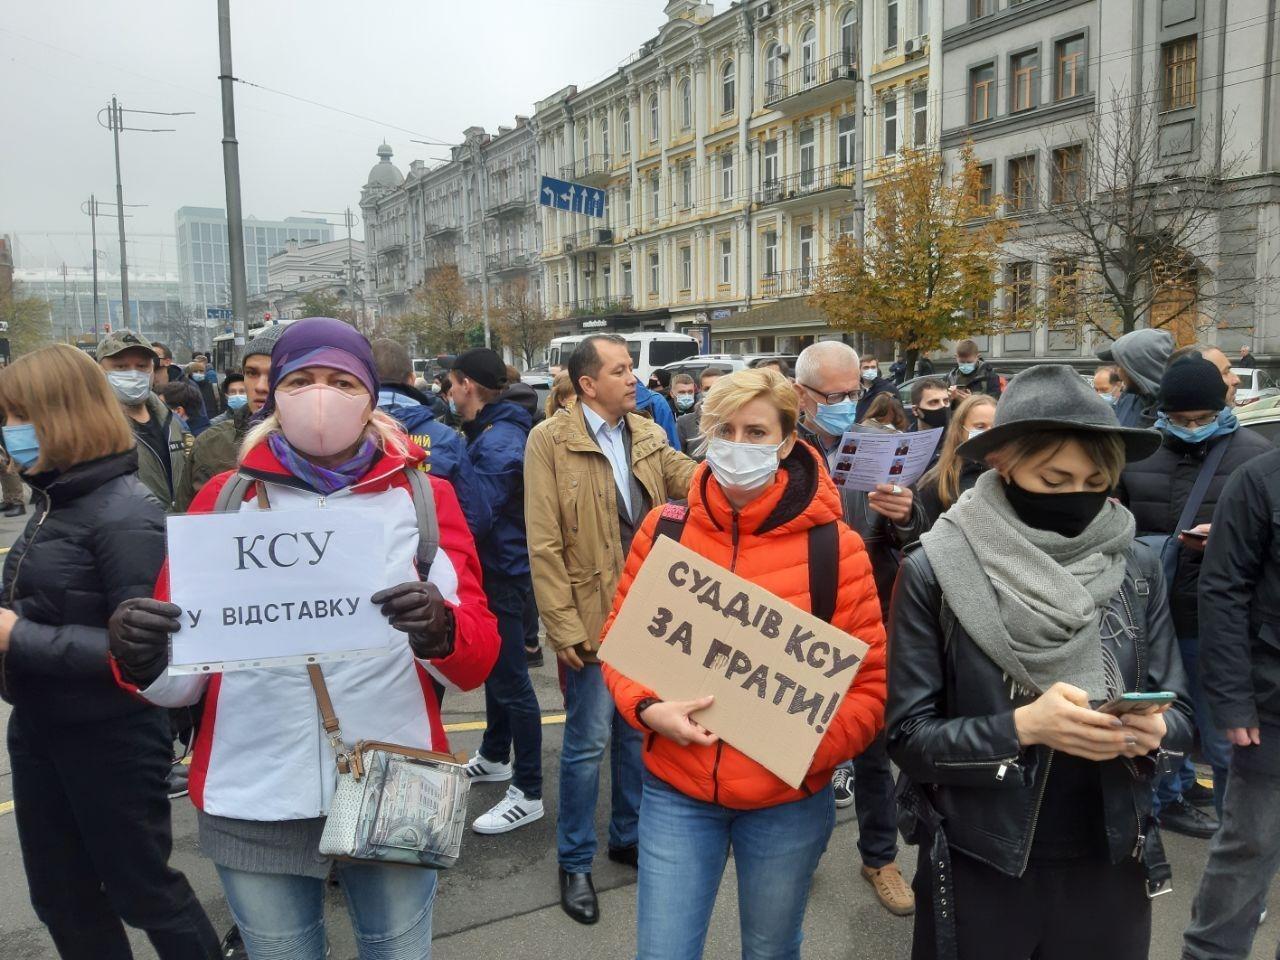
POLYGON ((0 408, 36 428, 40 458, 31 472, 68 470, 133 447, 133 429, 102 367, 65 343, 0 370, 0 408))

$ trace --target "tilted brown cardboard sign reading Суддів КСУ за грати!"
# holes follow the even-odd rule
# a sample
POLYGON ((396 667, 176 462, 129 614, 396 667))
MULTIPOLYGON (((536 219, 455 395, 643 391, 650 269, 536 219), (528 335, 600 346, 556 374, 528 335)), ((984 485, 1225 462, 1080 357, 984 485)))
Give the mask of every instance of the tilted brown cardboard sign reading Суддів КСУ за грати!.
POLYGON ((659 536, 600 659, 799 787, 867 644, 659 536))

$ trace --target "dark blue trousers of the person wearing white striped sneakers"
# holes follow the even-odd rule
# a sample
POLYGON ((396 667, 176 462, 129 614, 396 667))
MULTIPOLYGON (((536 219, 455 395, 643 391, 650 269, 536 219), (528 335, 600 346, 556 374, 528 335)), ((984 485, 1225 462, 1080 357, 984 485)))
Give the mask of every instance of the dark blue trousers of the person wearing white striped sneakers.
POLYGON ((525 655, 525 605, 534 590, 529 575, 504 577, 485 572, 484 591, 498 618, 502 649, 484 684, 488 726, 480 755, 506 763, 516 749, 512 781, 530 800, 543 796, 543 716, 525 655))

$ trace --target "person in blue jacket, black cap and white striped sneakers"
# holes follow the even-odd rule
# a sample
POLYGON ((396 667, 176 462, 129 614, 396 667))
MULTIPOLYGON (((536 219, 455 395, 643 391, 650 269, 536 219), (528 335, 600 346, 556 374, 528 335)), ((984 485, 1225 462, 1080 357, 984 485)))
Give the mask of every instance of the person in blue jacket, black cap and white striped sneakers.
POLYGON ((460 353, 449 380, 449 408, 462 422, 480 500, 481 518, 471 532, 502 637, 484 685, 484 740, 466 771, 472 783, 512 781, 471 828, 506 833, 543 818, 541 712, 525 655, 525 611, 534 589, 525 536, 525 443, 534 421, 522 406, 503 399, 507 365, 492 349, 460 353))

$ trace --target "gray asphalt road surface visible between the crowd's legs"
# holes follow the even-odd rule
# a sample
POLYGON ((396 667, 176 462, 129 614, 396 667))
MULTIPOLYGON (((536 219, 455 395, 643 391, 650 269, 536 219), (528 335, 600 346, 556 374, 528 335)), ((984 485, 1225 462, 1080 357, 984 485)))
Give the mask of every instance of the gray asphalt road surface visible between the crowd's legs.
MULTIPOLYGON (((18 534, 19 521, 0 518, 0 544, 18 534)), ((600 891, 602 920, 595 927, 580 927, 559 910, 554 856, 554 801, 562 727, 556 722, 562 709, 554 666, 548 663, 535 673, 535 686, 547 717, 544 726, 544 776, 548 817, 539 823, 500 837, 470 835, 462 863, 442 874, 435 910, 436 960, 521 956, 530 960, 602 960, 632 955, 635 945, 635 872, 604 859, 596 861, 596 887, 600 891)), ((479 692, 451 695, 445 721, 468 724, 484 719, 484 698, 479 692)), ((8 722, 8 707, 0 705, 0 723, 8 722)), ((476 730, 452 733, 454 749, 474 750, 480 742, 476 730)), ((605 764, 605 777, 608 765, 605 764)), ((472 813, 479 813, 502 794, 500 785, 479 785, 471 794, 472 813)), ((22 860, 12 808, 13 796, 8 753, 0 748, 0 957, 3 960, 54 960, 56 954, 27 901, 22 860)), ((608 785, 602 783, 602 796, 608 785)), ((196 847, 195 813, 186 800, 174 804, 174 864, 186 872, 206 905, 214 924, 227 925, 227 904, 210 863, 196 847)), ((600 819, 600 836, 604 820, 600 819)), ((840 812, 836 833, 814 882, 805 924, 805 956, 815 960, 908 960, 911 922, 891 916, 876 902, 870 888, 858 873, 858 823, 852 810, 840 812)), ((1174 960, 1179 955, 1181 929, 1190 915, 1207 844, 1183 837, 1166 838, 1175 869, 1175 891, 1155 906, 1153 960, 1174 960)), ((914 851, 902 855, 908 877, 914 870, 914 851)), ((1280 918, 1280 897, 1272 890, 1271 914, 1280 918)), ((355 960, 356 950, 340 895, 330 891, 330 940, 335 960, 355 960)), ((1088 918, 1082 918, 1088 922, 1088 918)), ((1263 925, 1252 960, 1275 956, 1280 925, 1263 925)), ((136 955, 154 957, 146 940, 134 934, 136 955)), ((721 890, 712 932, 709 960, 740 956, 737 908, 732 872, 721 890)), ((1097 960, 1105 960, 1098 957, 1097 960)))

